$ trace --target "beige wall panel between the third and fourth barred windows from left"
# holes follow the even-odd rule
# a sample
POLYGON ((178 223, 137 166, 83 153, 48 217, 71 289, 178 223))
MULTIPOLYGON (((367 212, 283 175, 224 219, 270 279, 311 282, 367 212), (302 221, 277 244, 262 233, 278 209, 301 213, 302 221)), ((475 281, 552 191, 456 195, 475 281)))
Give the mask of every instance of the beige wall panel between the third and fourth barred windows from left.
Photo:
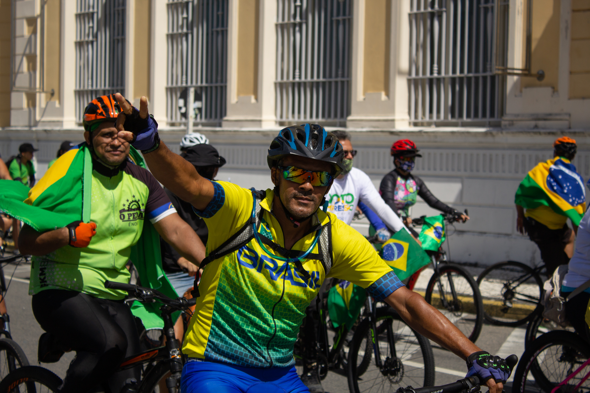
POLYGON ((363 95, 389 95, 389 37, 391 0, 365 2, 365 42, 363 60, 363 95))

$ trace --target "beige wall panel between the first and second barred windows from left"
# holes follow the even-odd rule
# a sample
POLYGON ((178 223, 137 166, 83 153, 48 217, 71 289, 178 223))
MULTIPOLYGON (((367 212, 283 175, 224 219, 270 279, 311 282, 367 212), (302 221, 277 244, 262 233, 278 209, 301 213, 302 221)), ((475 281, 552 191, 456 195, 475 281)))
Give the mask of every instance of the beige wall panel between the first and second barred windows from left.
MULTIPOLYGON (((150 80, 150 0, 135 0, 135 34, 133 42, 133 100, 149 98, 150 80)), ((162 59, 165 61, 165 59, 162 59)), ((131 100, 133 102, 133 100, 131 100)))

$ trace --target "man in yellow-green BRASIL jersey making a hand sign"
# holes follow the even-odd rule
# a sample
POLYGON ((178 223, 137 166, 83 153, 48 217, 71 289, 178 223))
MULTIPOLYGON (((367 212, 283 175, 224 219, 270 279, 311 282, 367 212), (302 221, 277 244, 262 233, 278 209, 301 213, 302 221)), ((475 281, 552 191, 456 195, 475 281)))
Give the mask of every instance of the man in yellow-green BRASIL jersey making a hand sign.
POLYGON ((293 345, 305 309, 324 279, 336 277, 387 302, 412 328, 467 361, 491 393, 510 375, 447 318, 405 288, 355 229, 326 213, 325 196, 342 172, 343 148, 317 124, 280 131, 268 150, 274 189, 242 189, 199 176, 158 137, 145 97, 140 110, 122 95, 119 137, 143 151, 156 179, 193 206, 209 228, 196 309, 185 336, 183 393, 308 392, 293 345))

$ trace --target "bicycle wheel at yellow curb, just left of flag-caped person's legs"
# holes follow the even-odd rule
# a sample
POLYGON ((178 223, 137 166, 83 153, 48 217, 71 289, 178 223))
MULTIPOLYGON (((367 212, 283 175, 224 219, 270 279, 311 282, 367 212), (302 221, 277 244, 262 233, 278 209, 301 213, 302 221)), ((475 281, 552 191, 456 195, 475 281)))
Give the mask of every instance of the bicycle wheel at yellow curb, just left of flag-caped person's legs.
POLYGON ((484 318, 494 325, 519 326, 540 311, 543 281, 524 263, 496 263, 477 278, 484 302, 484 318))

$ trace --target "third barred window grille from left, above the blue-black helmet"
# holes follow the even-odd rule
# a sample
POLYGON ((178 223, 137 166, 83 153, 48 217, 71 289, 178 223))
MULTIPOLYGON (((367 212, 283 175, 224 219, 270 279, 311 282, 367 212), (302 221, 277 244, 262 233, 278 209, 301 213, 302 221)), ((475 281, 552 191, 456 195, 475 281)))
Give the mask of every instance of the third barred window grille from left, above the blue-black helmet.
POLYGON ((277 2, 277 121, 346 124, 352 0, 277 2))

